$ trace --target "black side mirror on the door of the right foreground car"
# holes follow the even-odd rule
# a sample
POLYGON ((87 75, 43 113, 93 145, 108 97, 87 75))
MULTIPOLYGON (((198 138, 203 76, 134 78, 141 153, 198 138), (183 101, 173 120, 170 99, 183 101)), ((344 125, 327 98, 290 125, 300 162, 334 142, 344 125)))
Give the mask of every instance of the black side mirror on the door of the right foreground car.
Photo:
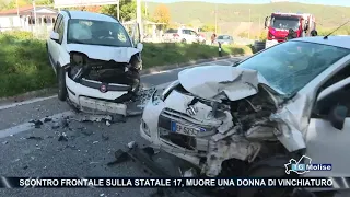
POLYGON ((336 129, 342 130, 347 114, 348 107, 343 105, 337 105, 330 109, 328 120, 336 129))

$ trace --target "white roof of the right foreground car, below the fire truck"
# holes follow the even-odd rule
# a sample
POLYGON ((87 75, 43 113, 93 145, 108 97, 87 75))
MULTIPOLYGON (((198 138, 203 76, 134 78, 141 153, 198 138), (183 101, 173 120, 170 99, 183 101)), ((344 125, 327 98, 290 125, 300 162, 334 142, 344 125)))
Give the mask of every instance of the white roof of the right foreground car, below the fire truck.
POLYGON ((301 37, 292 39, 294 42, 308 42, 315 44, 330 45, 341 48, 350 49, 350 36, 328 36, 328 38, 324 38, 324 36, 314 36, 314 37, 301 37))

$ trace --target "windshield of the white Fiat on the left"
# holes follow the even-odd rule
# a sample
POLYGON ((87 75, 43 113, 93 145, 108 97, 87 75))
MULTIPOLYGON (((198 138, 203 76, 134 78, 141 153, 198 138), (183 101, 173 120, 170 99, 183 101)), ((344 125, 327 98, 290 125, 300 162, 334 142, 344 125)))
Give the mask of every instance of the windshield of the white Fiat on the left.
POLYGON ((69 20, 67 43, 132 47, 120 23, 82 19, 69 20))

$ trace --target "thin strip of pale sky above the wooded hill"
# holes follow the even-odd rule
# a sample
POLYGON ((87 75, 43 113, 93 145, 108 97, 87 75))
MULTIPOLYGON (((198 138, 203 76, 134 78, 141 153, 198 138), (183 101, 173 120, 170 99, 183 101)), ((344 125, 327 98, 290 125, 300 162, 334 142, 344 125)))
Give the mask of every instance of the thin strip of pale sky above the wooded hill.
MULTIPOLYGON (((269 3, 270 0, 148 0, 152 2, 171 3, 180 1, 205 1, 217 3, 269 3)), ((350 7, 350 0, 291 0, 293 2, 302 2, 308 4, 327 4, 327 5, 342 5, 350 7)))

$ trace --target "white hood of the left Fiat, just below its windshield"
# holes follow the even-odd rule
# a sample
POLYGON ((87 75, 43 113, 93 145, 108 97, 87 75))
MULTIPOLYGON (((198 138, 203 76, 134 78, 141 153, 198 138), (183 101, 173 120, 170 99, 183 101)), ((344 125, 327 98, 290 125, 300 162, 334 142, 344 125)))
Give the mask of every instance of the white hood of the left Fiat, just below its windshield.
POLYGON ((89 58, 100 60, 115 60, 117 62, 129 62, 131 57, 140 53, 138 48, 133 47, 110 47, 110 46, 98 46, 98 45, 80 45, 80 44, 68 44, 68 53, 79 51, 85 54, 89 58))

